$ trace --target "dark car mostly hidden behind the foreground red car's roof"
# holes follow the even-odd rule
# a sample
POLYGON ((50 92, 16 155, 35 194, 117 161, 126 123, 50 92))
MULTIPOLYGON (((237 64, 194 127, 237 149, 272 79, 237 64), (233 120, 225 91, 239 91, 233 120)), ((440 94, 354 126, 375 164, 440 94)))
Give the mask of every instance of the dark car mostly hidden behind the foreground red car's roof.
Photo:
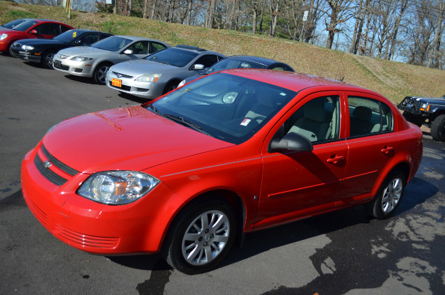
POLYGON ((204 73, 182 80, 178 87, 196 80, 198 77, 202 77, 203 75, 208 75, 219 70, 230 70, 231 68, 265 68, 268 70, 285 70, 287 72, 295 72, 295 70, 286 63, 274 61, 273 59, 266 59, 265 57, 251 55, 233 55, 228 56, 222 61, 218 61, 210 68, 207 68, 204 73))

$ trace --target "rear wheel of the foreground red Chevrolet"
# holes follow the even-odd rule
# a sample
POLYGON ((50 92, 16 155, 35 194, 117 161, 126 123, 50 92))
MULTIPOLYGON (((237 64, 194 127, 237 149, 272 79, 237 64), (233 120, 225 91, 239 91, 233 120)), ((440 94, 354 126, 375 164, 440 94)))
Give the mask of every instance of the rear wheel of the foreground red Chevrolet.
POLYGON ((400 170, 393 170, 383 181, 373 201, 365 205, 368 213, 377 219, 391 217, 402 200, 405 186, 405 174, 400 170))

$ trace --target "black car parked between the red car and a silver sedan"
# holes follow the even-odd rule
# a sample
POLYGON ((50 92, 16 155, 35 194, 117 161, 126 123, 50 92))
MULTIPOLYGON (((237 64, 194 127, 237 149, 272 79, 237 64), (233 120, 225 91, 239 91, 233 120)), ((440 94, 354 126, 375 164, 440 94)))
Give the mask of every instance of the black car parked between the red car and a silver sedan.
POLYGON ((65 31, 52 39, 18 40, 11 47, 13 56, 24 61, 40 63, 45 68, 52 68, 52 58, 58 50, 73 46, 85 46, 113 36, 100 31, 73 29, 65 31))

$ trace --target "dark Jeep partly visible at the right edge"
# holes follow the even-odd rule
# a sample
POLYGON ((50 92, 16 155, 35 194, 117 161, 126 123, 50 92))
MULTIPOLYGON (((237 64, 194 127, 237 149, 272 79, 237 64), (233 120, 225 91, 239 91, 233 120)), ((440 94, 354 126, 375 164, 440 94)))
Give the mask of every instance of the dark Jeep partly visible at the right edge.
POLYGON ((407 96, 397 105, 408 122, 431 128, 431 137, 445 142, 445 96, 425 98, 407 96))

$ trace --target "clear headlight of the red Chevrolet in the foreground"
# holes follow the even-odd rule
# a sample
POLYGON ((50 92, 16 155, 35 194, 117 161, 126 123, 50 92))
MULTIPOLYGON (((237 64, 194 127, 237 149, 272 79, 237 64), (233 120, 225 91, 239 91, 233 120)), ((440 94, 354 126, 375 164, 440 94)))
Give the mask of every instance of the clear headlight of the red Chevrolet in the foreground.
POLYGON ((95 202, 121 205, 143 197, 157 183, 159 180, 142 172, 99 172, 88 177, 77 193, 95 202))

